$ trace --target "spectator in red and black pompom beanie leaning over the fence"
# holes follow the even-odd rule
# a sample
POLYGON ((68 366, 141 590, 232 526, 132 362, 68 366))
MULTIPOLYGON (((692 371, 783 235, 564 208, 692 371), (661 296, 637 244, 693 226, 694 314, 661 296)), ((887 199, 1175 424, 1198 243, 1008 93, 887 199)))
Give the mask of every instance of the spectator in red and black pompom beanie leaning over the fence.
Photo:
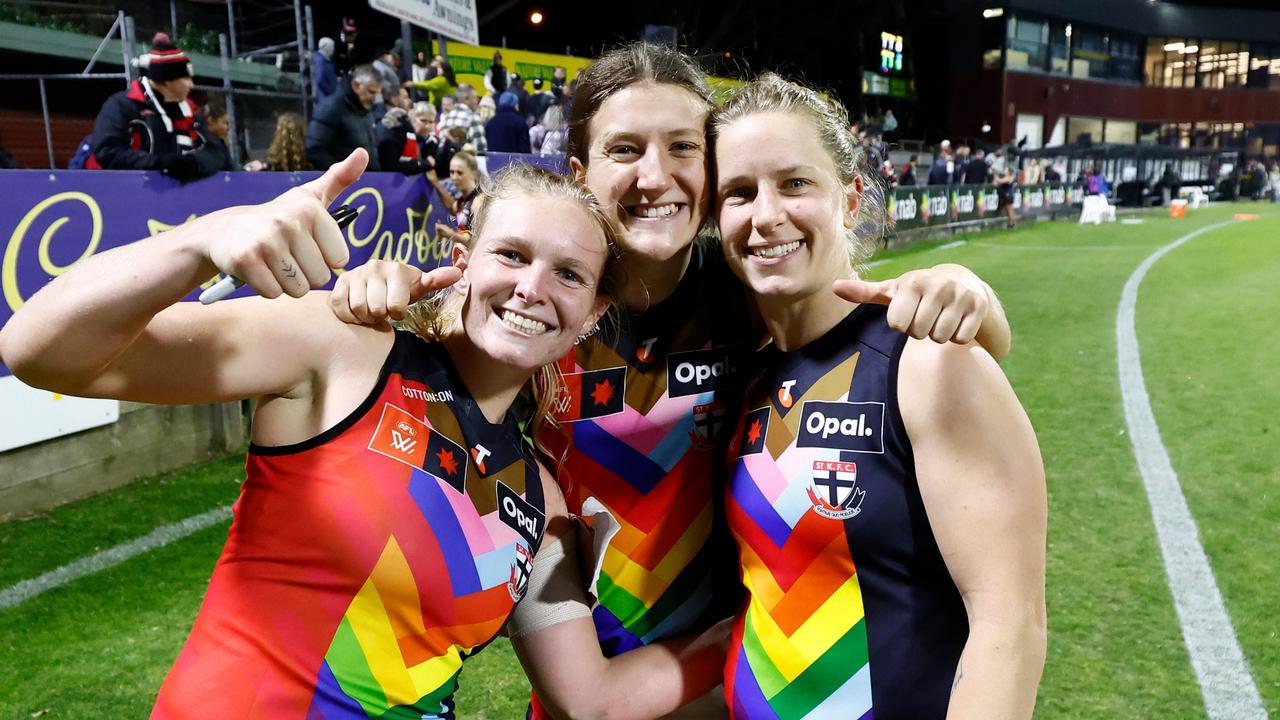
POLYGON ((84 167, 163 170, 184 182, 225 167, 227 146, 207 132, 204 114, 188 97, 195 83, 187 54, 161 32, 137 64, 143 77, 99 110, 84 167))

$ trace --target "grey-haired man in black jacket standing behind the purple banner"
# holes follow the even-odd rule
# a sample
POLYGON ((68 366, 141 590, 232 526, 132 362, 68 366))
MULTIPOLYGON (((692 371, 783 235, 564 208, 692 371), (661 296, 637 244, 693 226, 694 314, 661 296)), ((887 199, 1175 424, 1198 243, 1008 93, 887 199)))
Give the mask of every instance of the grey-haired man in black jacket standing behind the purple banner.
POLYGON ((307 128, 307 161, 317 170, 342 160, 357 147, 369 151, 369 170, 378 170, 378 141, 369 110, 383 91, 372 65, 357 65, 343 83, 316 108, 307 128))

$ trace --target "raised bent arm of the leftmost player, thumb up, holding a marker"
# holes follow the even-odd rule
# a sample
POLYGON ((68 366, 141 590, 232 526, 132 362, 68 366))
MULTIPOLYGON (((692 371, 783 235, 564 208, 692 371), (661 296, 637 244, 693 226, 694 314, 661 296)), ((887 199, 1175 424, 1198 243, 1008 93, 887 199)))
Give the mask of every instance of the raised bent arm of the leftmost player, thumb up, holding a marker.
POLYGON ((211 402, 296 389, 333 355, 333 338, 305 322, 319 307, 178 301, 219 270, 265 297, 301 297, 326 282, 347 246, 325 205, 364 165, 357 151, 270 202, 219 210, 77 264, 0 331, 0 356, 24 382, 70 395, 211 402))

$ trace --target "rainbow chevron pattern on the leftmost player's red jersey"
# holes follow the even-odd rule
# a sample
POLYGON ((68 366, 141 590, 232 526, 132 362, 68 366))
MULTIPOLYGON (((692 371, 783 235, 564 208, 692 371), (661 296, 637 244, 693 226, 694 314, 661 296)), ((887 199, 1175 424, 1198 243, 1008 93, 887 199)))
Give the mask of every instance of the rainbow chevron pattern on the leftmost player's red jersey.
POLYGON ((430 530, 412 546, 387 542, 325 653, 308 717, 449 716, 463 659, 511 612, 516 530, 426 471, 413 471, 408 495, 430 530))

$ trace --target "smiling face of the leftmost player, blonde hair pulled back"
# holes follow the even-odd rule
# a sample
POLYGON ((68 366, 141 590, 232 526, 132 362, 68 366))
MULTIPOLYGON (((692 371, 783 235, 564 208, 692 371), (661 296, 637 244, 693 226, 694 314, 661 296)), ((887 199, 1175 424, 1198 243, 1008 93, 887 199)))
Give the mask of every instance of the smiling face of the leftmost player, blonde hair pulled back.
POLYGON ((489 357, 531 373, 604 313, 604 232, 571 200, 520 192, 490 202, 481 237, 458 263, 462 327, 489 357))

